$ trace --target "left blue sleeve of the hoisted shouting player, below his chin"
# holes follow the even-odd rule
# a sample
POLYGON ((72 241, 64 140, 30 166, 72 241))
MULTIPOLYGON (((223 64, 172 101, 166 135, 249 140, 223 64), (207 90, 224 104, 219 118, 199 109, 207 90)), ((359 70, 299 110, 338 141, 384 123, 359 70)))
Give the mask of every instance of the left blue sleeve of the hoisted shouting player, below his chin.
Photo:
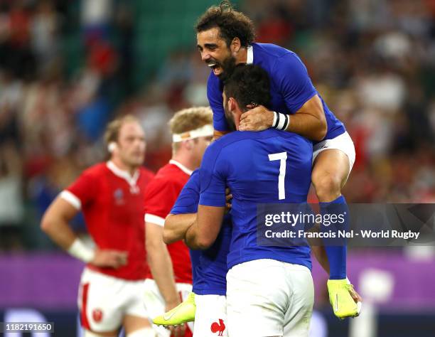
POLYGON ((225 119, 222 99, 222 83, 219 78, 210 73, 207 81, 207 98, 213 110, 213 127, 218 131, 227 131, 228 124, 225 119))

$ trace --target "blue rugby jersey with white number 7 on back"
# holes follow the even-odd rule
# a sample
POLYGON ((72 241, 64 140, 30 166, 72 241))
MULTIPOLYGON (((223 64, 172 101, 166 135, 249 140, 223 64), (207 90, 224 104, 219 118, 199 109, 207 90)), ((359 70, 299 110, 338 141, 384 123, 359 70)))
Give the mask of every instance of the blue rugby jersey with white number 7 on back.
POLYGON ((312 144, 291 132, 231 132, 205 150, 200 167, 200 205, 225 206, 232 193, 232 238, 227 267, 259 259, 311 269, 308 246, 257 245, 257 204, 306 203, 311 184, 312 144), (281 160, 286 166, 279 179, 281 160), (281 181, 281 183, 279 183, 281 181), (284 183, 283 183, 284 182, 284 183))

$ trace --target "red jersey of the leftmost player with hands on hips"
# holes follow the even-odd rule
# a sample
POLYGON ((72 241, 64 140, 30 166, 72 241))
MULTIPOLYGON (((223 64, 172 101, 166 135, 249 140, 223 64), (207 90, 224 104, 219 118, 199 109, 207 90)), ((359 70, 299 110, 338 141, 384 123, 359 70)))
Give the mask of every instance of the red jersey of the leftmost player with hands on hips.
POLYGON ((128 262, 119 269, 90 269, 121 279, 145 279, 146 264, 144 192, 154 177, 140 168, 131 176, 112 161, 96 164, 72 183, 61 197, 85 215, 87 230, 100 249, 126 250, 128 262))

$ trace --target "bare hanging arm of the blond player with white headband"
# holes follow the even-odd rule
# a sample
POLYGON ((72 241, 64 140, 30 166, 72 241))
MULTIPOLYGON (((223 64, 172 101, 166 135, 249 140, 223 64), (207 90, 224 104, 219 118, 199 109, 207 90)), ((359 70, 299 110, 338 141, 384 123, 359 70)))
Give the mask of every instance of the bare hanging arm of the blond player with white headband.
POLYGON ((181 303, 173 276, 173 267, 168 248, 163 242, 163 228, 154 223, 146 223, 146 252, 149 268, 161 296, 166 303, 166 310, 181 303))

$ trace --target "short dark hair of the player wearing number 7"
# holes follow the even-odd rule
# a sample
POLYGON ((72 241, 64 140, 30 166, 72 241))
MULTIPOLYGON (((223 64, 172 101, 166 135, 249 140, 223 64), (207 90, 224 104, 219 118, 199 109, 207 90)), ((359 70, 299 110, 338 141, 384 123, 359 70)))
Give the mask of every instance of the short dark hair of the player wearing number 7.
POLYGON ((225 81, 224 92, 227 98, 234 97, 243 112, 247 105, 268 107, 271 100, 269 75, 259 65, 237 65, 225 81))

